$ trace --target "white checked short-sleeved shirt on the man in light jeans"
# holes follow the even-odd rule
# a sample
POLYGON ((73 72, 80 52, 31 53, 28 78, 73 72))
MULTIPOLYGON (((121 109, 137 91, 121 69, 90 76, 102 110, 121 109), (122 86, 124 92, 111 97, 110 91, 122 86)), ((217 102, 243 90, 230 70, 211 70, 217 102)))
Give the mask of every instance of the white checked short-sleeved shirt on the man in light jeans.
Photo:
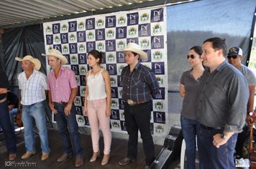
POLYGON ((22 105, 32 105, 46 99, 45 90, 47 89, 47 78, 45 74, 34 69, 27 79, 25 72, 18 76, 19 90, 22 90, 22 105))

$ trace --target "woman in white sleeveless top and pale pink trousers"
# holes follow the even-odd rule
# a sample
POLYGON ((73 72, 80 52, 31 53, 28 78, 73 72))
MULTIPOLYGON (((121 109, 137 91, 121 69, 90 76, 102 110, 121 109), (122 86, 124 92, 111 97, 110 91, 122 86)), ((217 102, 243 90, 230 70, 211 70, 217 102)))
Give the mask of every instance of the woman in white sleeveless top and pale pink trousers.
POLYGON ((101 67, 103 53, 97 50, 88 52, 88 64, 92 69, 86 73, 86 95, 84 114, 88 115, 91 126, 93 155, 90 162, 100 156, 99 127, 104 137, 104 157, 101 165, 109 163, 111 148, 111 131, 109 127, 111 115, 111 87, 109 72, 101 67))

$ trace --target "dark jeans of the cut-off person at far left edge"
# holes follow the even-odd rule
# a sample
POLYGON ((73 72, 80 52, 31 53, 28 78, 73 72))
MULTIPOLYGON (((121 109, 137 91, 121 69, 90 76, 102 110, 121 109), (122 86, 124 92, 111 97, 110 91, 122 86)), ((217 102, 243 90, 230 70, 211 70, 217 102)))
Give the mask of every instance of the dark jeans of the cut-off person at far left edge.
POLYGON ((6 148, 9 153, 17 153, 16 137, 10 121, 7 101, 0 103, 0 125, 6 139, 6 148))

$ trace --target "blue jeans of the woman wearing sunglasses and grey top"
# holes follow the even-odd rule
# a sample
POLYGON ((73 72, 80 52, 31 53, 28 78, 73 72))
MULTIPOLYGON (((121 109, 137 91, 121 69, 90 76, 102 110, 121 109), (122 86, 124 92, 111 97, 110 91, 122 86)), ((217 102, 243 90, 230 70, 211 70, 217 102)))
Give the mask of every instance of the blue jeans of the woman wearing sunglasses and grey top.
POLYGON ((187 168, 196 168, 196 133, 198 122, 180 116, 182 134, 186 143, 187 168))

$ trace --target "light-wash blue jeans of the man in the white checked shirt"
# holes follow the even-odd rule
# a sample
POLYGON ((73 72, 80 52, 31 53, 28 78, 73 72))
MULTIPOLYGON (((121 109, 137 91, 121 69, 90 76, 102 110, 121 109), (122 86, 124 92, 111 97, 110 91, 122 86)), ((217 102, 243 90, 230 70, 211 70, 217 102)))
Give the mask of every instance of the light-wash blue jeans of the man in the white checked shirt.
POLYGON ((50 153, 45 118, 45 101, 33 105, 23 105, 22 122, 24 126, 24 141, 27 152, 35 152, 34 120, 41 141, 42 153, 50 153))

